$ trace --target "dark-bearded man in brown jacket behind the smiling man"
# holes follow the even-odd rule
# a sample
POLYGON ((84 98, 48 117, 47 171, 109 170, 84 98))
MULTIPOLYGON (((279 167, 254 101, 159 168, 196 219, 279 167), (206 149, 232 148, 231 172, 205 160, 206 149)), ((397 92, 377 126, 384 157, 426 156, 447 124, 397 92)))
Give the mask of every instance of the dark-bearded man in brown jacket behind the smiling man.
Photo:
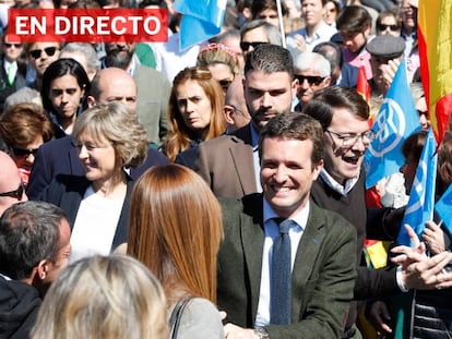
POLYGON ((243 90, 251 122, 230 135, 201 143, 194 160, 194 170, 216 196, 239 198, 262 190, 259 133, 271 118, 290 111, 297 84, 287 49, 264 44, 248 56, 243 90))

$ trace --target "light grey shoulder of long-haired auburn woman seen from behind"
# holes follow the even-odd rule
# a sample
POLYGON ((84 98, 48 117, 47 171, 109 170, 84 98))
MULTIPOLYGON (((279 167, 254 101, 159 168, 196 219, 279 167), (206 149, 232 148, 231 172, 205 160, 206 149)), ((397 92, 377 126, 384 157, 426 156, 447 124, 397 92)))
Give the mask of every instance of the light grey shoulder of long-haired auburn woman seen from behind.
POLYGON ((216 306, 203 298, 191 299, 181 315, 177 338, 224 338, 216 306))

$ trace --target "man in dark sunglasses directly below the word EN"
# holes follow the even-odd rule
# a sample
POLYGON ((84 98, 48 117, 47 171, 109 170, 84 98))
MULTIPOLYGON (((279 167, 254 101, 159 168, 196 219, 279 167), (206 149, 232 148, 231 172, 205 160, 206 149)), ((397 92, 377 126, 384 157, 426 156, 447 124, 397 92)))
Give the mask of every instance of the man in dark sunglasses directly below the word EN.
POLYGON ((28 64, 36 72, 36 78, 29 81, 28 87, 40 90, 43 75, 50 63, 60 56, 60 43, 32 43, 25 46, 28 64))

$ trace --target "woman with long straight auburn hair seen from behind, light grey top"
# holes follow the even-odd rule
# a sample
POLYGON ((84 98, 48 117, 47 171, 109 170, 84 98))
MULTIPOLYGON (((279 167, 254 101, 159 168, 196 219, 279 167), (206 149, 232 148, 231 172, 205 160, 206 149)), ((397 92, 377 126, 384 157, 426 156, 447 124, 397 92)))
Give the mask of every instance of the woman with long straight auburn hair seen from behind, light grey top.
POLYGON ((169 313, 186 305, 173 338, 224 338, 214 306, 222 237, 219 204, 192 170, 156 166, 136 181, 128 253, 163 283, 169 313))

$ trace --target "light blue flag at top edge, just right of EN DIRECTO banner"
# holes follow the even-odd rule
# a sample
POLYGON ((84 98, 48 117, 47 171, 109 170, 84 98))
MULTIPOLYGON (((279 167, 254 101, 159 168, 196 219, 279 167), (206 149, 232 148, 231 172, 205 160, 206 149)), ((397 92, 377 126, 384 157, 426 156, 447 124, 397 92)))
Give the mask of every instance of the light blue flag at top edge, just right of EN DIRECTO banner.
POLYGON ((178 0, 174 9, 183 14, 180 50, 217 35, 225 19, 227 0, 178 0))

